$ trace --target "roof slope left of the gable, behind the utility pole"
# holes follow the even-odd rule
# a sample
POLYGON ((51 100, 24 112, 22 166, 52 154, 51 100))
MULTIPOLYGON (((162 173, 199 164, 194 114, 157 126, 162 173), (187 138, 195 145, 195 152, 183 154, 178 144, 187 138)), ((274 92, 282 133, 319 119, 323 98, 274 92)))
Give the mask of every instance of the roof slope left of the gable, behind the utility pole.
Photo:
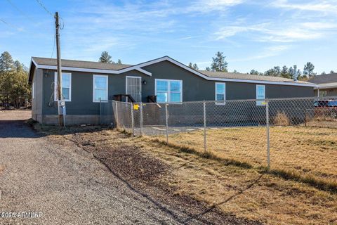
MULTIPOLYGON (((57 60, 55 58, 32 57, 32 59, 38 65, 55 65, 55 66, 57 65, 57 60)), ((67 60, 67 59, 62 59, 61 64, 62 67, 98 69, 98 70, 121 70, 131 66, 118 63, 99 63, 99 62, 67 60)))

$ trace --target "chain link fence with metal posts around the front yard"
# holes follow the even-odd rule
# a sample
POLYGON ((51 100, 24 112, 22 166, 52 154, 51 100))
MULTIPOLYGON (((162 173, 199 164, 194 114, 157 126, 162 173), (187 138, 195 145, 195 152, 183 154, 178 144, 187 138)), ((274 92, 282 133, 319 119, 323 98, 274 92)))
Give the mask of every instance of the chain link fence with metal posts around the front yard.
POLYGON ((104 104, 104 122, 135 136, 337 182, 337 97, 104 104))

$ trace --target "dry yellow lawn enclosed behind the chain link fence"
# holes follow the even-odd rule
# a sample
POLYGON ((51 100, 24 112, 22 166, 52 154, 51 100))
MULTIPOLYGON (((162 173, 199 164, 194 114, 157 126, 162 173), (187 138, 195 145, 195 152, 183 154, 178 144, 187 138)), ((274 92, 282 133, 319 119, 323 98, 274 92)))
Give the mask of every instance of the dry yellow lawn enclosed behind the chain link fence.
MULTIPOLYGON (((207 129, 206 136, 207 151, 218 158, 267 166, 265 127, 207 129)), ((170 134, 169 143, 204 152, 204 131, 170 134)), ((310 176, 337 187, 336 165, 337 129, 270 127, 271 169, 310 176)))

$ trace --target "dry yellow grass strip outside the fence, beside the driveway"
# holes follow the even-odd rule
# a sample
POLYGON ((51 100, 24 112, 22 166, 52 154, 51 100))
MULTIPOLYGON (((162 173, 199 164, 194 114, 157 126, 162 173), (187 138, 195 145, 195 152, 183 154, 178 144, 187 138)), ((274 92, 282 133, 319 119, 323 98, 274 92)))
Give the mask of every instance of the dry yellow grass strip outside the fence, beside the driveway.
MULTIPOLYGON (((112 136, 117 136, 116 132, 108 131, 112 136)), ((334 193, 261 174, 258 169, 224 165, 148 138, 122 136, 112 142, 138 146, 176 168, 176 179, 167 179, 167 184, 224 212, 266 224, 337 224, 334 193)))

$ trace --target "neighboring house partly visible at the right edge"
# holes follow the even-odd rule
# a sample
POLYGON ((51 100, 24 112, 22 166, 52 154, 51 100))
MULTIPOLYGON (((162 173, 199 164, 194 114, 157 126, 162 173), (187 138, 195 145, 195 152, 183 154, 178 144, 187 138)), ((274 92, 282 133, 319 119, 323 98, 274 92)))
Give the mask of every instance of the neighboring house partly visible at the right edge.
POLYGON ((337 73, 317 75, 308 82, 317 84, 315 96, 337 96, 337 73))

